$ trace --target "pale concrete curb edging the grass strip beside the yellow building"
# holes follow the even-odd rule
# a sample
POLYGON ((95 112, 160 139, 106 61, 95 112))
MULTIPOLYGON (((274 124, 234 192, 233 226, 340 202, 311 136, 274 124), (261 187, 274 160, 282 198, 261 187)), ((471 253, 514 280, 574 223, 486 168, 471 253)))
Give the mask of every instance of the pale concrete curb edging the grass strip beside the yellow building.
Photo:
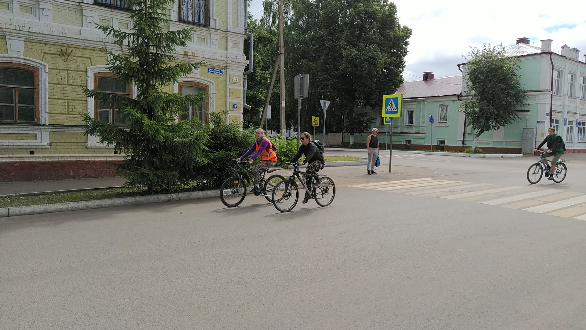
POLYGON ((16 215, 30 215, 63 211, 90 210, 124 205, 160 203, 163 201, 193 200, 220 196, 220 190, 189 191, 187 193, 161 194, 151 196, 136 196, 109 198, 105 200, 72 201, 68 203, 41 204, 29 206, 15 206, 0 208, 1 217, 15 217, 16 215))

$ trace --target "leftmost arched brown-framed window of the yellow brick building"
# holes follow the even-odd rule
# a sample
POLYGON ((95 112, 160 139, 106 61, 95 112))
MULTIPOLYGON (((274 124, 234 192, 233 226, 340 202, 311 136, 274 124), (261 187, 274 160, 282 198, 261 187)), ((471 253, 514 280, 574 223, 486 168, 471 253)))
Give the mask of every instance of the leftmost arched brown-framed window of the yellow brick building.
POLYGON ((0 63, 0 122, 39 123, 39 68, 0 63))

